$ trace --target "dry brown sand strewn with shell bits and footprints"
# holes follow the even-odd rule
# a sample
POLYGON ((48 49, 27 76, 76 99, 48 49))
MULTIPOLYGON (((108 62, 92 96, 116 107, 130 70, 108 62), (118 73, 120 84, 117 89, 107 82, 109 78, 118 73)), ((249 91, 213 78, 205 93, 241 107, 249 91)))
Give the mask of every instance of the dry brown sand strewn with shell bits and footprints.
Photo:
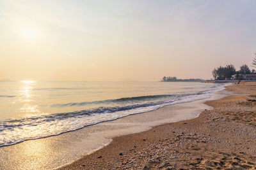
POLYGON ((61 169, 255 169, 256 83, 206 104, 200 117, 119 136, 61 169))

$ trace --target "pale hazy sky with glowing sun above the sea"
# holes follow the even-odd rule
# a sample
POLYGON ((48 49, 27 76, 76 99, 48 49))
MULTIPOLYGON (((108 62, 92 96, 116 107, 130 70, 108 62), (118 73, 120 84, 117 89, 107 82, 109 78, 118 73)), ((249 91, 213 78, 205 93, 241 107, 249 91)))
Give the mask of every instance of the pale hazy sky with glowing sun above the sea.
POLYGON ((0 0, 0 80, 212 78, 256 52, 256 1, 0 0))

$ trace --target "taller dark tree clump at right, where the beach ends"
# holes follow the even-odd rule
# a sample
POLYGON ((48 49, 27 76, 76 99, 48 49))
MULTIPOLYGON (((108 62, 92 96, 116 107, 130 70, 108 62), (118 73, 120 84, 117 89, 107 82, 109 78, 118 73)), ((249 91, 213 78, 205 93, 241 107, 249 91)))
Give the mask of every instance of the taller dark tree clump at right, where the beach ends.
POLYGON ((243 64, 239 71, 236 71, 232 64, 225 67, 220 66, 212 70, 212 76, 215 80, 241 80, 244 74, 255 74, 255 70, 250 70, 246 64, 243 64))

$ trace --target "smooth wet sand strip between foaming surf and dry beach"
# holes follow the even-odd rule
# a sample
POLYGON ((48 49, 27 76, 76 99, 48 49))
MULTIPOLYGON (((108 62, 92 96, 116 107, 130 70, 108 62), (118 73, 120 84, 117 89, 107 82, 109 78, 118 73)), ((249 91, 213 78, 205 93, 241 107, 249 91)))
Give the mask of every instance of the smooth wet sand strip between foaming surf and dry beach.
MULTIPOLYGON (((230 93, 228 93, 230 94, 230 93)), ((58 136, 28 140, 0 148, 0 169, 55 169, 104 148, 116 136, 148 131, 157 125, 198 117, 210 106, 205 101, 228 95, 221 91, 212 97, 164 106, 158 110, 103 122, 58 136)))

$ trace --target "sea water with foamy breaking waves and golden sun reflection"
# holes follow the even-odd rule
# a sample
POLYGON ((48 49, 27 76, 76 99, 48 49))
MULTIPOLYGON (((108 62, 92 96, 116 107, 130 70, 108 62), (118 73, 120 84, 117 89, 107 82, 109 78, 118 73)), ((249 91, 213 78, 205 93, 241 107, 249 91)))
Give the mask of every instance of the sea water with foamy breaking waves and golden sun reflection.
POLYGON ((0 146, 211 97, 226 84, 0 81, 0 146))

